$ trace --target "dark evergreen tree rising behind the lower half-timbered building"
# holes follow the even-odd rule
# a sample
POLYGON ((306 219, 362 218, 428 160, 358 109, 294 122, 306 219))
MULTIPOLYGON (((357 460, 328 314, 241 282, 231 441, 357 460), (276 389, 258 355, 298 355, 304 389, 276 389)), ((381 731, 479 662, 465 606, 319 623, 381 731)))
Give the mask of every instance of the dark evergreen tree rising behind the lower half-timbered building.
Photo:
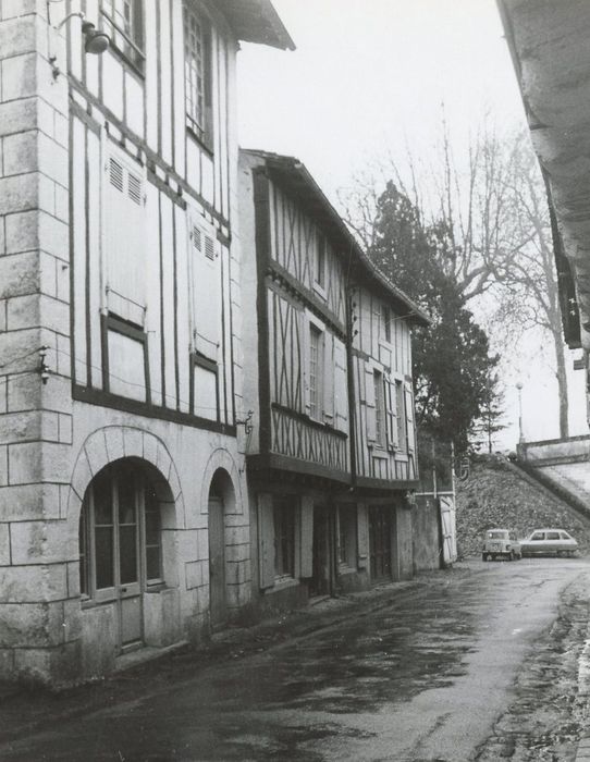
POLYGON ((388 184, 369 254, 431 316, 432 324, 417 329, 413 341, 417 421, 437 439, 454 442, 460 455, 485 410, 495 409, 488 380, 500 358, 490 355, 488 336, 447 267, 457 257, 452 241, 444 221, 425 225, 411 201, 388 184))

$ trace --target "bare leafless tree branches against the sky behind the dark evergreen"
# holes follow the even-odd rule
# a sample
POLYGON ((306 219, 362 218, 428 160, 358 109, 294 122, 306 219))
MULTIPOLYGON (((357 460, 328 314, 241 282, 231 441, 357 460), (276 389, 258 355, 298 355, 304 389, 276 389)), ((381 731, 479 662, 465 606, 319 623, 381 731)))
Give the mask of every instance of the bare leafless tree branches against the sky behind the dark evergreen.
POLYGON ((437 251, 463 305, 485 305, 494 344, 505 352, 541 330, 551 340, 558 388, 560 434, 568 435, 566 354, 544 185, 526 136, 499 137, 487 128, 457 156, 443 118, 434 158, 407 151, 357 177, 340 196, 344 218, 371 251, 379 199, 386 183, 417 207, 438 236, 437 251), (494 330, 495 327, 495 330, 494 330))

